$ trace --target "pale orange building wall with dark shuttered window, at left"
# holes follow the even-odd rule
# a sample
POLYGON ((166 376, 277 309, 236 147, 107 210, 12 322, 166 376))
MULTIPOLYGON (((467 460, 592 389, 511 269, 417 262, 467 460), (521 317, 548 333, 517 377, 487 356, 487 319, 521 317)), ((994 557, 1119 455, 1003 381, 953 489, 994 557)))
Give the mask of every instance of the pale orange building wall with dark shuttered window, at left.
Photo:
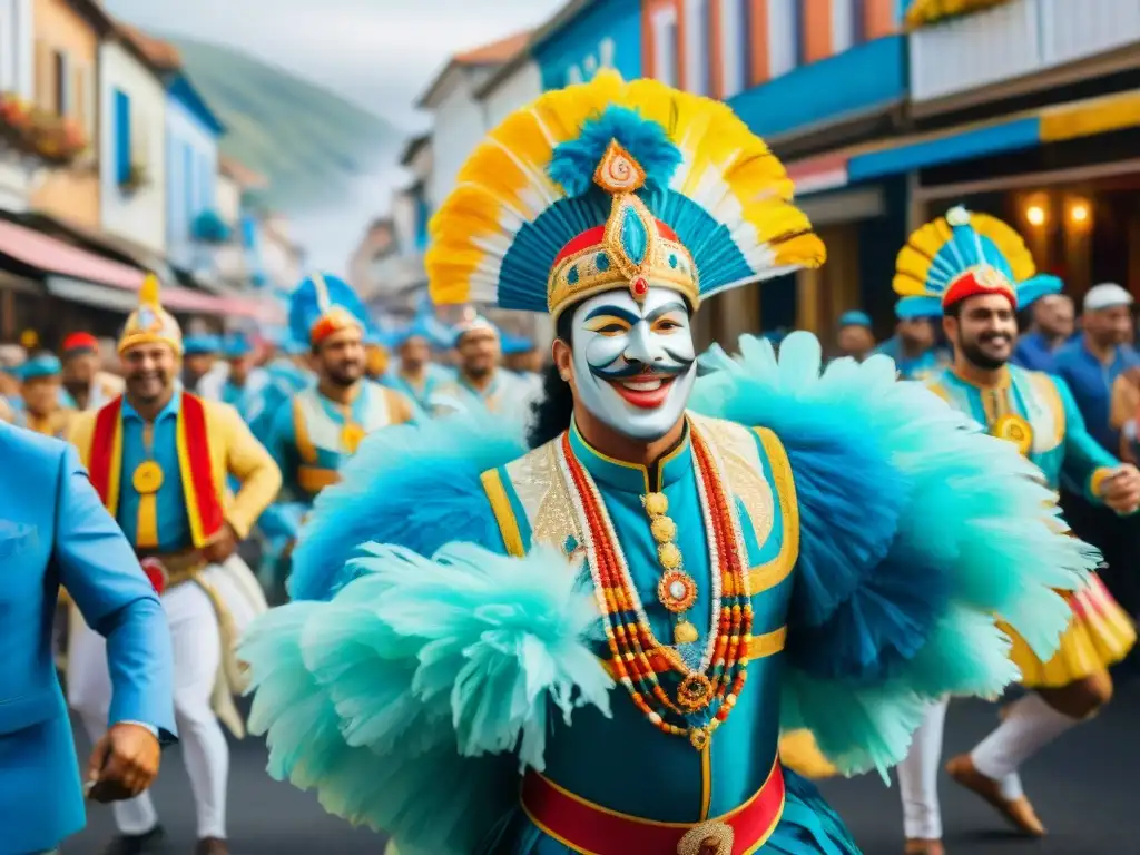
POLYGON ((36 106, 80 122, 90 149, 74 165, 54 168, 32 194, 32 207, 80 226, 99 227, 98 57, 99 35, 66 0, 33 0, 36 106), (60 87, 57 54, 65 59, 60 87), (66 104, 60 109, 60 90, 66 104))

